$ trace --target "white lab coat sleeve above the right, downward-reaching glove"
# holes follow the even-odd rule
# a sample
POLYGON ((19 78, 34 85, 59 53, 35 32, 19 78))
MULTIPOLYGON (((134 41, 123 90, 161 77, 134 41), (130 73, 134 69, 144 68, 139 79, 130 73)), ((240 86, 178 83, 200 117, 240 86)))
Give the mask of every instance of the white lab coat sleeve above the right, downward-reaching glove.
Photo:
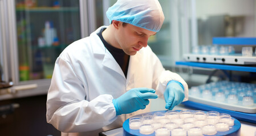
POLYGON ((165 70, 164 67, 162 66, 160 59, 156 56, 155 53, 152 53, 151 60, 155 60, 155 62, 153 63, 153 66, 155 66, 155 73, 153 76, 154 77, 153 88, 156 88, 157 95, 159 95, 160 97, 163 97, 167 83, 170 80, 176 80, 180 82, 184 87, 185 98, 183 101, 188 100, 189 89, 188 89, 188 84, 185 82, 185 80, 182 79, 181 76, 178 75, 177 73, 173 73, 172 71, 165 70))

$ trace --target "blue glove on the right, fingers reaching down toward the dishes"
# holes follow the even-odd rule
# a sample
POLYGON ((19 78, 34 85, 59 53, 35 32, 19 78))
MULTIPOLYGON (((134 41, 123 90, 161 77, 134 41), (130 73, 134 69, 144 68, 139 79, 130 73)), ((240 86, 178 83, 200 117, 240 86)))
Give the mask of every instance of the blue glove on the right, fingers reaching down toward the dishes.
POLYGON ((172 110, 176 105, 183 101, 184 97, 184 87, 182 84, 176 80, 171 80, 166 85, 164 92, 165 108, 172 110))

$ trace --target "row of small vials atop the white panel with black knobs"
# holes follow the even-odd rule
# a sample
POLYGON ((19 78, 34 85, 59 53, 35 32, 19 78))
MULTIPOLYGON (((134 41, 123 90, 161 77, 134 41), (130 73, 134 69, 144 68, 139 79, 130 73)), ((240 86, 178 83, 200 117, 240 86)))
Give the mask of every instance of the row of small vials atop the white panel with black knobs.
MULTIPOLYGON (((233 46, 194 46, 192 48, 193 54, 211 54, 211 55, 234 55, 235 49, 233 46)), ((253 56, 253 47, 245 46, 241 50, 242 56, 251 57, 253 56)), ((256 49, 255 49, 256 55, 256 49)))

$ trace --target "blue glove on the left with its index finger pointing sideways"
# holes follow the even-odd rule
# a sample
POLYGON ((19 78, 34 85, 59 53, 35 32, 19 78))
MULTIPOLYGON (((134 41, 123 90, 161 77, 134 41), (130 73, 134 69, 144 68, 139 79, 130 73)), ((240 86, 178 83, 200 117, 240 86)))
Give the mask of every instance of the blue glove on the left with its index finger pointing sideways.
POLYGON ((127 114, 145 109, 148 99, 156 99, 155 90, 150 88, 132 88, 117 99, 113 99, 116 115, 127 114))

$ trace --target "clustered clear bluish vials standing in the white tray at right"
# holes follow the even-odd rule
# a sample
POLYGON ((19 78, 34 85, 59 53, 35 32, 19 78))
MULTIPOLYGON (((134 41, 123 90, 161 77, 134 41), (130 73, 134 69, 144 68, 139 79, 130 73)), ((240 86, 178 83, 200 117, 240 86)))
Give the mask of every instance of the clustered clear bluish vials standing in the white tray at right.
POLYGON ((241 103, 245 107, 256 104, 256 84, 240 82, 213 82, 191 87, 189 94, 207 100, 218 100, 229 104, 241 103), (203 97, 204 96, 204 97, 203 97))

